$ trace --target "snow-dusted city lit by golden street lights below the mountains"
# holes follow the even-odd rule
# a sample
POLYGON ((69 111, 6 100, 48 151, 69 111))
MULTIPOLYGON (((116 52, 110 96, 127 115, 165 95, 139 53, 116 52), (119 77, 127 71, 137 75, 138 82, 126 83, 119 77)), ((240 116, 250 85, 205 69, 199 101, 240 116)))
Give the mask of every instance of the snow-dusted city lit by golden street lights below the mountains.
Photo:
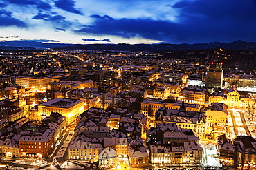
POLYGON ((0 164, 255 169, 255 70, 192 53, 0 52, 0 164))

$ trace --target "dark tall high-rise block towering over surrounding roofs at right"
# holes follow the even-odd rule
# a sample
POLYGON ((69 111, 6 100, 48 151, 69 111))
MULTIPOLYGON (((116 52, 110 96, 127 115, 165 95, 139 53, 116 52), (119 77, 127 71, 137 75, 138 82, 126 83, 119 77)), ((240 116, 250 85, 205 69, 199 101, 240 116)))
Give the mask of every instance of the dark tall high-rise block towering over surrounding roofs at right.
POLYGON ((208 72, 206 72, 205 86, 207 88, 222 87, 223 70, 222 63, 211 63, 208 72))

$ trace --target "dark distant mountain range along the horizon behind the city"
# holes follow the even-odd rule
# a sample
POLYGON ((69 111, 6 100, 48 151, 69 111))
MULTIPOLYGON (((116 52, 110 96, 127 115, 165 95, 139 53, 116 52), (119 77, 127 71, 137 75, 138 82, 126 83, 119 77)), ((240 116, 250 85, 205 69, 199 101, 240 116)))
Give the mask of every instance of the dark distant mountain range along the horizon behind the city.
POLYGON ((106 51, 180 51, 180 50, 204 50, 204 49, 230 49, 230 50, 256 50, 255 42, 234 41, 231 43, 194 43, 194 44, 65 44, 42 43, 37 41, 1 41, 1 50, 106 50, 106 51))

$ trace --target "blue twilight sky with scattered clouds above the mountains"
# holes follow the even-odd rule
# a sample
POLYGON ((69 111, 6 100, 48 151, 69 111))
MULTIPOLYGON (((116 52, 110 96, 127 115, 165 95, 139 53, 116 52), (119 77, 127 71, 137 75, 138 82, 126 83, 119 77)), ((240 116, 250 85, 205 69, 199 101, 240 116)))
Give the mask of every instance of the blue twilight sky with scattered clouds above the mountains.
POLYGON ((256 0, 0 0, 0 41, 256 41, 256 0))

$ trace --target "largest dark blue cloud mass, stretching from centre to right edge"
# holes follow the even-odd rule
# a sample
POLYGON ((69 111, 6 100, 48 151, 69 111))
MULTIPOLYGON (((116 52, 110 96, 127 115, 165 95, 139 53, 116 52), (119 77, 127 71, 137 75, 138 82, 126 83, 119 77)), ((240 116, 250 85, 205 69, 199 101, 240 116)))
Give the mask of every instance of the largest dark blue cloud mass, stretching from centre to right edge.
POLYGON ((179 10, 177 21, 153 19, 113 19, 92 15, 93 25, 78 30, 82 34, 143 37, 174 43, 208 41, 255 41, 256 1, 240 0, 181 1, 172 8, 179 10))

